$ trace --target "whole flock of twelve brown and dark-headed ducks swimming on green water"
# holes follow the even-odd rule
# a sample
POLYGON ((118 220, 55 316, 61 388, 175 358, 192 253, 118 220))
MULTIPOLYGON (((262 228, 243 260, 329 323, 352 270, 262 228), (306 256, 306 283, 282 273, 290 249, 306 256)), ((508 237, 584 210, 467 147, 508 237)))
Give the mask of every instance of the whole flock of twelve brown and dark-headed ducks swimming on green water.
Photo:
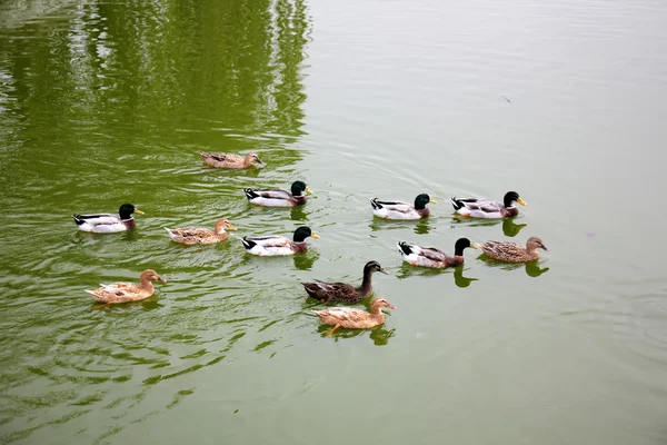
MULTIPOLYGON (((233 154, 219 152, 199 152, 202 160, 216 168, 249 168, 252 166, 263 167, 265 164, 257 154, 249 152, 245 157, 233 154)), ((248 201, 258 206, 267 207, 295 207, 302 206, 307 201, 307 195, 311 190, 303 181, 295 181, 291 189, 243 189, 248 201)), ((427 218, 430 210, 427 208, 429 202, 435 202, 426 194, 418 195, 414 204, 402 201, 386 201, 378 198, 370 200, 372 212, 376 217, 385 219, 422 219, 427 218)), ((518 215, 519 210, 515 204, 526 206, 527 204, 516 191, 508 191, 502 201, 480 198, 451 198, 455 212, 460 217, 470 218, 508 218, 518 215)), ((143 214, 131 204, 120 206, 118 215, 97 214, 97 215, 72 215, 79 230, 96 234, 111 234, 125 230, 131 230, 136 227, 132 214, 143 214)), ((213 230, 201 227, 177 227, 165 228, 169 237, 176 243, 186 245, 207 245, 220 243, 227 239, 227 230, 237 230, 237 228, 226 218, 219 219, 213 230)), ((258 256, 280 256, 293 255, 308 249, 306 238, 319 238, 309 227, 299 227, 295 230, 292 239, 283 236, 261 236, 241 238, 243 248, 248 254, 258 256)), ((468 238, 459 238, 454 246, 454 255, 435 247, 424 247, 414 243, 399 241, 398 251, 402 259, 411 266, 446 268, 464 264, 464 250, 468 247, 481 249, 488 257, 509 263, 528 263, 538 259, 537 249, 548 251, 541 239, 537 237, 528 238, 526 246, 507 241, 487 241, 478 245, 470 243, 468 238)), ((316 280, 313 283, 302 283, 309 297, 320 303, 358 303, 372 294, 372 274, 379 271, 388 274, 378 261, 368 261, 364 266, 364 278, 360 286, 352 286, 347 283, 325 283, 316 280)), ((100 285, 98 289, 86 290, 94 299, 103 304, 117 304, 127 301, 138 301, 150 297, 153 291, 152 281, 167 283, 155 270, 145 270, 140 276, 139 284, 115 283, 110 285, 100 285)), ((331 307, 323 310, 313 310, 321 323, 334 326, 328 332, 331 335, 339 327, 346 328, 369 328, 385 323, 385 315, 381 309, 396 309, 386 298, 378 297, 370 301, 370 313, 350 308, 331 307)))

